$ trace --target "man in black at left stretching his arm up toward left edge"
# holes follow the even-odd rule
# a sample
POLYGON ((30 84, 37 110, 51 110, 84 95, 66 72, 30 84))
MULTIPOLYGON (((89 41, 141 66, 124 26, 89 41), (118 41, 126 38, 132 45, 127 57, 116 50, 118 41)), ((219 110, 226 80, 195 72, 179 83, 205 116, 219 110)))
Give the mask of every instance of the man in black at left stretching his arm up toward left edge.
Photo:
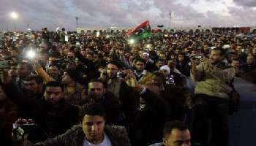
POLYGON ((7 70, 1 70, 1 85, 9 99, 21 109, 29 111, 26 118, 37 123, 35 134, 29 136, 33 142, 56 137, 78 123, 78 107, 64 100, 64 87, 61 82, 47 82, 44 95, 39 99, 29 98, 21 93, 7 70))

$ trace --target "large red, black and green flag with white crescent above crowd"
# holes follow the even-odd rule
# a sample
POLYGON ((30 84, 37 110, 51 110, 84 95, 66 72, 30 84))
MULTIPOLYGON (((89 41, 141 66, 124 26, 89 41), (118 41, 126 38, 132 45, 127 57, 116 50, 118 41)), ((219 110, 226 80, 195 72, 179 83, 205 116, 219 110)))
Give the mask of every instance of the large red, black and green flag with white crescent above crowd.
POLYGON ((127 36, 129 36, 131 39, 135 39, 135 41, 139 41, 140 39, 145 39, 147 37, 152 37, 149 21, 146 20, 135 28, 130 29, 127 32, 127 36))

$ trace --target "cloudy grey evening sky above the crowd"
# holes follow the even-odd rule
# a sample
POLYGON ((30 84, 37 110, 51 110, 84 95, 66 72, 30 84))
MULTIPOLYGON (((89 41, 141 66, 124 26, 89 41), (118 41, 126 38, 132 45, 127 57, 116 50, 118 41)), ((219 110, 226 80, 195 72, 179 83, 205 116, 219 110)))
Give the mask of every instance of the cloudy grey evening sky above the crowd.
POLYGON ((0 0, 0 31, 64 27, 256 26, 256 0, 0 0), (18 19, 10 18, 11 12, 18 19))

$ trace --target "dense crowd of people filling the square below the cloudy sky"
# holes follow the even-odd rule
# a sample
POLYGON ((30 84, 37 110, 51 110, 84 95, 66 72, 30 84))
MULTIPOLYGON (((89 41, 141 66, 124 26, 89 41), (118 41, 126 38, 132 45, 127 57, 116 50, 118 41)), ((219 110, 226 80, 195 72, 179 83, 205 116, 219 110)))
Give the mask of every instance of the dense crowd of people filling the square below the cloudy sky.
POLYGON ((131 39, 6 32, 1 145, 227 146, 234 77, 256 83, 256 39, 209 31, 131 39), (18 139, 13 123, 36 126, 18 139))

